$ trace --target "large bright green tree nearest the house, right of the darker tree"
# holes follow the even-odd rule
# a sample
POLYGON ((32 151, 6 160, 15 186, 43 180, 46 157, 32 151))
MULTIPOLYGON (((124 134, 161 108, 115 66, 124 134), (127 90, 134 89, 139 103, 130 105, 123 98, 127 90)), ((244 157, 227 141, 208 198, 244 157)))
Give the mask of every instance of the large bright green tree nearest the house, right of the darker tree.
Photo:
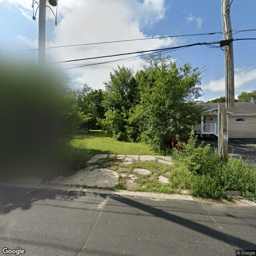
POLYGON ((146 59, 148 66, 136 73, 140 103, 130 116, 139 124, 142 140, 156 150, 166 150, 171 136, 187 136, 203 112, 195 100, 201 94, 201 71, 191 64, 178 67, 170 56, 146 59))

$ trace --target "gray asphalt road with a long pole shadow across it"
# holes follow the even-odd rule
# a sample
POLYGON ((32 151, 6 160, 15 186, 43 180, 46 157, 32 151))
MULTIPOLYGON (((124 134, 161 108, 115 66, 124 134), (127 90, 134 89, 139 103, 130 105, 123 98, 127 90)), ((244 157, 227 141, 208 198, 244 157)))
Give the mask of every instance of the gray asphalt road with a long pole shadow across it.
POLYGON ((1 186, 0 244, 25 256, 234 256, 256 250, 256 207, 1 186))

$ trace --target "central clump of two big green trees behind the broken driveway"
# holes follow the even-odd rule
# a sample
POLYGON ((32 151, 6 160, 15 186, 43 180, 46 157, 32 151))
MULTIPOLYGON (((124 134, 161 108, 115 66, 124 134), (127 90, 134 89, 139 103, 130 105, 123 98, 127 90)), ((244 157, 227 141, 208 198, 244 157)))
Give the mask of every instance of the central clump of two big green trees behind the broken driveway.
POLYGON ((186 136, 203 112, 195 100, 202 96, 201 71, 186 63, 178 67, 169 56, 151 56, 134 72, 118 66, 105 83, 103 130, 118 140, 144 141, 166 150, 176 134, 186 136))

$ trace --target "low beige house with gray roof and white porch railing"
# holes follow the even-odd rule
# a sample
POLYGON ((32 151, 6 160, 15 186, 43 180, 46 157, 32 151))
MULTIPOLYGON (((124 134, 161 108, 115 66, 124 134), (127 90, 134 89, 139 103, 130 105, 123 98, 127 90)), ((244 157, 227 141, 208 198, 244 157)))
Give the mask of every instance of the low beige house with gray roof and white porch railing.
MULTIPOLYGON (((196 131, 201 136, 218 136, 218 103, 198 103, 206 109, 196 131)), ((256 138, 256 102, 235 102, 227 108, 228 138, 256 138)))

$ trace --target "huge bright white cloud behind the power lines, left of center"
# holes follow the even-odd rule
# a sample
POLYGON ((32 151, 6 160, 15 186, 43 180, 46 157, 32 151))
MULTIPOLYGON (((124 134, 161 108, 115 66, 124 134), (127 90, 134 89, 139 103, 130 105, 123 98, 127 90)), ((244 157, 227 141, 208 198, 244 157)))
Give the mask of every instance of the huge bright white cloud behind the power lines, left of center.
MULTIPOLYGON (((3 0, 0 0, 0 2, 3 2, 3 0)), ((32 10, 31 0, 5 0, 4 2, 18 5, 21 12, 22 10, 32 10)), ((164 0, 144 0, 143 2, 138 0, 61 0, 58 4, 58 25, 55 28, 55 39, 52 42, 46 42, 46 47, 137 38, 146 39, 148 37, 142 33, 142 28, 151 26, 164 19, 166 11, 164 2, 164 0)), ((53 15, 49 12, 48 8, 47 15, 51 18, 53 15)), ((31 48, 38 48, 37 40, 31 41, 21 36, 19 38, 22 42, 30 45, 31 48)), ((178 42, 180 41, 177 38, 165 38, 47 49, 46 62, 152 50, 167 46, 176 46, 178 42)), ((126 57, 130 57, 130 55, 70 62, 60 64, 59 66, 61 68, 75 67, 74 65, 92 64, 126 57)), ((109 80, 109 74, 112 68, 117 68, 117 64, 120 66, 123 64, 125 66, 133 66, 136 72, 142 68, 144 60, 138 59, 131 62, 123 61, 112 64, 94 65, 67 70, 67 72, 73 78, 76 86, 87 83, 92 88, 104 88, 103 82, 109 80)))

